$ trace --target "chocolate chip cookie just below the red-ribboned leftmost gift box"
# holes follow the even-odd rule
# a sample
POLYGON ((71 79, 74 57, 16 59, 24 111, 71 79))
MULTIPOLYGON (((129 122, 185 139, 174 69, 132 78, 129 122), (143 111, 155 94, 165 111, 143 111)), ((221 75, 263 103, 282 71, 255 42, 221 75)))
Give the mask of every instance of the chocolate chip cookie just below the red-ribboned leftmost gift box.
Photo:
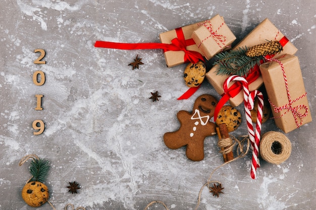
POLYGON ((190 63, 184 70, 183 79, 188 87, 199 86, 205 78, 205 63, 199 61, 195 64, 190 63))

